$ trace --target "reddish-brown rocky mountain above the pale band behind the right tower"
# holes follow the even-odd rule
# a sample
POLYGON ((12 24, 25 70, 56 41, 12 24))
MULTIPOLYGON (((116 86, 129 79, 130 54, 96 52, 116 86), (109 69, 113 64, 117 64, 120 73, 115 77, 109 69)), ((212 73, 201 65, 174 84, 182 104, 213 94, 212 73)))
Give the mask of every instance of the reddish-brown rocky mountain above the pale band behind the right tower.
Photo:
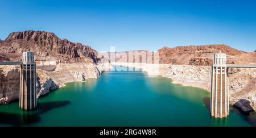
POLYGON ((218 52, 226 53, 229 64, 256 61, 256 58, 240 61, 242 57, 247 57, 250 52, 239 51, 225 44, 163 47, 158 52, 159 62, 162 64, 210 65, 213 63, 213 54, 218 52))

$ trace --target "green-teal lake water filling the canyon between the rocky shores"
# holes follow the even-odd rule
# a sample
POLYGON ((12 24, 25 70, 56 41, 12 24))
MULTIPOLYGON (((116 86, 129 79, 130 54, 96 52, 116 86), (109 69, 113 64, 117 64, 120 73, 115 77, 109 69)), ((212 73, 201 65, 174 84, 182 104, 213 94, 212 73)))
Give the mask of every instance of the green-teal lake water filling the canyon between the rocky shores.
POLYGON ((34 111, 18 101, 0 105, 0 126, 255 126, 255 115, 235 108, 226 119, 209 114, 210 94, 149 78, 142 72, 105 72, 67 83, 38 99, 34 111))

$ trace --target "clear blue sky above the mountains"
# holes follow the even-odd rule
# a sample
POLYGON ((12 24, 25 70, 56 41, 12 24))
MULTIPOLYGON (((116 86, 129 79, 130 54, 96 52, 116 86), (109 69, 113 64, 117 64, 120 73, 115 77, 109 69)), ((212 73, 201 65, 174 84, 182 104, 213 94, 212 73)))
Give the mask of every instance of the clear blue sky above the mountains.
POLYGON ((256 50, 256 1, 0 0, 0 39, 39 30, 98 52, 227 44, 256 50))

